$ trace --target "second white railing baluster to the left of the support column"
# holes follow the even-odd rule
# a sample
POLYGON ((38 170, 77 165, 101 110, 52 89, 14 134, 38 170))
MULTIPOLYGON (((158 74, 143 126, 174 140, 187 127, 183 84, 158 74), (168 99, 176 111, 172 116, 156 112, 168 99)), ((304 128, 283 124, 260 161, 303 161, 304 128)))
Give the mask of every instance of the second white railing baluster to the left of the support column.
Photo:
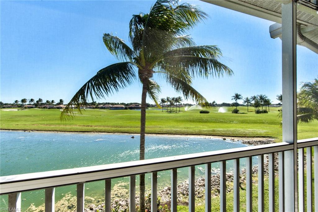
POLYGON ((268 154, 268 209, 275 211, 275 155, 268 154))

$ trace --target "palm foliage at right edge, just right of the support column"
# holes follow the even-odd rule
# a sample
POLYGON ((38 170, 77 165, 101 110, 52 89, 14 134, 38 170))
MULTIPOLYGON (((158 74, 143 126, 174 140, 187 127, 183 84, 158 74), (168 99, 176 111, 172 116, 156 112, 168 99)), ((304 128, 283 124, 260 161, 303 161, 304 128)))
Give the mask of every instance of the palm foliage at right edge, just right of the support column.
POLYGON ((318 78, 303 83, 297 93, 297 121, 318 120, 318 78))

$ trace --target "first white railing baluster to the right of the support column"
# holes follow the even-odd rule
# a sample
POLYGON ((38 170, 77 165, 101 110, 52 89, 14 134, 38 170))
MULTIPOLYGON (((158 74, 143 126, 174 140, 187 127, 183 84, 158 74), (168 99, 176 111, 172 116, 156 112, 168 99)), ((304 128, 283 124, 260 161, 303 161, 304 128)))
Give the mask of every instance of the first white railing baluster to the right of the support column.
POLYGON ((304 179, 304 149, 298 149, 298 194, 299 212, 305 211, 305 179, 304 179))

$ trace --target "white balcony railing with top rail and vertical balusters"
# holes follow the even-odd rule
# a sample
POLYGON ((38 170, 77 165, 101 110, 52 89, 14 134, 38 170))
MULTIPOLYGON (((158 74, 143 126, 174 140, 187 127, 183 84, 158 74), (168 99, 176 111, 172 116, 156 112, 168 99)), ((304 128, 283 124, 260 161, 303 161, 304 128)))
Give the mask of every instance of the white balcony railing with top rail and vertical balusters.
MULTIPOLYGON (((304 210, 304 148, 307 149, 307 209, 312 210, 312 151, 314 147, 314 188, 315 206, 318 207, 318 138, 297 142, 299 210, 304 210)), ((77 184, 77 211, 84 211, 84 184, 90 181, 105 180, 105 211, 111 211, 111 179, 130 177, 130 211, 135 211, 135 175, 151 173, 151 211, 157 211, 157 172, 171 170, 171 211, 177 206, 177 168, 189 167, 189 211, 194 211, 195 165, 205 164, 205 211, 211 209, 211 163, 220 162, 220 210, 226 211, 226 161, 235 160, 234 172, 234 211, 239 211, 239 159, 246 158, 246 211, 252 211, 252 156, 258 156, 258 207, 264 211, 264 154, 268 154, 269 171, 269 210, 275 206, 274 153, 279 153, 279 204, 284 210, 284 151, 293 150, 294 145, 274 143, 259 146, 225 149, 212 152, 186 154, 173 157, 130 161, 92 167, 72 168, 57 171, 38 172, 2 176, 0 194, 9 194, 9 208, 21 208, 21 192, 45 188, 45 211, 54 211, 55 187, 77 184)), ((297 176, 295 176, 297 177, 297 176)))

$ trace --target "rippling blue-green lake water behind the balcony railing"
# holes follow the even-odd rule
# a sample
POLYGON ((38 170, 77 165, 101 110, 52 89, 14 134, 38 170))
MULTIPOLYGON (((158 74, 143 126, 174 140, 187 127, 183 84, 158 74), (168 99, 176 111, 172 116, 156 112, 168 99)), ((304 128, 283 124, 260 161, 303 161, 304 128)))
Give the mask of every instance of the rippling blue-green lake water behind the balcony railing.
MULTIPOLYGON (((93 165, 136 161, 139 158, 139 135, 87 134, 87 133, 39 133, 13 132, 0 133, 0 175, 24 174, 78 168, 93 165)), ((213 150, 245 147, 240 142, 222 139, 146 136, 145 158, 158 158, 180 154, 207 152, 213 150)), ((244 166, 244 161, 242 161, 244 166)), ((204 166, 196 166, 196 176, 204 175, 204 166)), ((212 168, 218 168, 218 163, 212 168)), ((231 161, 227 166, 233 167, 231 161)), ((170 171, 158 173, 159 188, 169 186, 170 171)), ((188 178, 188 169, 178 169, 178 181, 188 178)), ((112 180, 128 182, 128 178, 112 180)), ((136 183, 138 185, 138 182, 136 183)), ((146 186, 150 187, 150 175, 146 175, 146 186)), ((126 185, 128 187, 128 185, 126 185)), ((85 185, 85 195, 94 198, 104 196, 104 182, 91 182, 85 185)), ((76 185, 56 188, 56 201, 66 193, 76 194, 76 185)), ((136 189, 137 190, 137 189, 136 189)), ((22 207, 31 203, 36 206, 44 203, 44 190, 22 193, 22 207)), ((2 195, 1 205, 6 205, 7 196, 2 195)), ((1 206, 3 207, 3 206, 1 206)))

